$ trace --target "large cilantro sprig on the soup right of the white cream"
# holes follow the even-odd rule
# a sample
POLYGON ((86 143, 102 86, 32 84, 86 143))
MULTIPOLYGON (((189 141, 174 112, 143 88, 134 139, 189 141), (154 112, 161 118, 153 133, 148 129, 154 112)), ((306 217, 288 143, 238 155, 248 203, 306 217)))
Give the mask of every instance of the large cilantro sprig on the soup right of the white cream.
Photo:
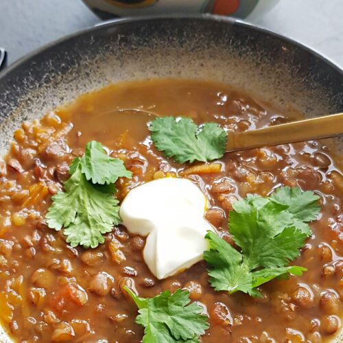
POLYGON ((215 290, 260 296, 259 285, 306 271, 288 264, 311 235, 307 222, 318 215, 318 198, 311 191, 283 187, 270 198, 249 195, 235 202, 228 229, 240 251, 213 232, 206 235, 210 250, 204 260, 215 290))

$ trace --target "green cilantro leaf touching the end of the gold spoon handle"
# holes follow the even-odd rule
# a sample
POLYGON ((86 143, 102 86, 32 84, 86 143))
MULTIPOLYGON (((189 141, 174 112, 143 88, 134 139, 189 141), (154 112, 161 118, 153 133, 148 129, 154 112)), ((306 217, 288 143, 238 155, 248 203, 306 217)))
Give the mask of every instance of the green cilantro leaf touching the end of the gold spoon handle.
POLYGON ((163 117, 149 130, 155 147, 178 163, 212 161, 225 152, 227 134, 217 123, 196 126, 188 118, 163 117))

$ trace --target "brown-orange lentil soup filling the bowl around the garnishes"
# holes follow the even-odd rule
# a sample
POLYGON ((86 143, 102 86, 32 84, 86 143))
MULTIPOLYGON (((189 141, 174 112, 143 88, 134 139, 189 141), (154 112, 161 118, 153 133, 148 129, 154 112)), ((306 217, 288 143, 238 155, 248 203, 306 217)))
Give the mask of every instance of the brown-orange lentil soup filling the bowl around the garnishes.
MULTIPOLYGON (((227 130, 250 130, 291 120, 265 110, 224 84, 150 80, 86 94, 40 121, 23 123, 0 164, 0 320, 19 342, 140 342, 137 307, 123 286, 152 297, 189 289, 204 306, 210 328, 202 342, 322 342, 340 329, 343 300, 343 176, 326 141, 226 154, 217 173, 185 175, 152 145, 143 121, 116 108, 214 121, 227 130), (164 176, 185 176, 209 200, 208 220, 223 237, 228 211, 248 193, 266 196, 287 185, 314 191, 321 211, 313 235, 294 264, 303 276, 259 287, 263 298, 215 292, 203 262, 158 281, 145 265, 145 239, 117 226, 95 249, 72 248, 45 225, 51 196, 62 190, 69 164, 89 141, 121 158, 132 179, 119 179, 117 197, 164 176)), ((146 199, 149 202, 149 199, 146 199)), ((172 216, 173 213, 170 213, 172 216)), ((168 220, 168 218, 166 218, 168 220)), ((176 254, 182 253, 175 248, 176 254)))

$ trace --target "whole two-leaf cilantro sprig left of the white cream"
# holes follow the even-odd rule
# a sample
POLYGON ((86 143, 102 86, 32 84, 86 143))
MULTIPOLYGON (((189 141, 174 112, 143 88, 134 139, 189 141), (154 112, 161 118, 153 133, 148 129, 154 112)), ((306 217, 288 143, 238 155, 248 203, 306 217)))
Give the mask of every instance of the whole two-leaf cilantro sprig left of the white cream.
POLYGON ((122 176, 131 178, 123 162, 110 158, 100 143, 86 144, 82 158, 75 158, 64 182, 64 192, 51 197, 47 211, 49 228, 64 228, 71 246, 96 248, 104 243, 104 234, 121 223, 114 182, 122 176))

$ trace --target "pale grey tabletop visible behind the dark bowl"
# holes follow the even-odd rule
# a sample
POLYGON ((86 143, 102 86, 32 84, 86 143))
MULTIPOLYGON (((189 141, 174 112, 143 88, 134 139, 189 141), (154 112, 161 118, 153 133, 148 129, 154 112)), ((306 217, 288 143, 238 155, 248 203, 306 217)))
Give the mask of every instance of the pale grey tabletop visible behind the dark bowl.
MULTIPOLYGON (((289 36, 343 67, 343 0, 281 0, 254 23, 289 36)), ((65 34, 99 23, 81 0, 0 0, 0 47, 14 62, 65 34)))

